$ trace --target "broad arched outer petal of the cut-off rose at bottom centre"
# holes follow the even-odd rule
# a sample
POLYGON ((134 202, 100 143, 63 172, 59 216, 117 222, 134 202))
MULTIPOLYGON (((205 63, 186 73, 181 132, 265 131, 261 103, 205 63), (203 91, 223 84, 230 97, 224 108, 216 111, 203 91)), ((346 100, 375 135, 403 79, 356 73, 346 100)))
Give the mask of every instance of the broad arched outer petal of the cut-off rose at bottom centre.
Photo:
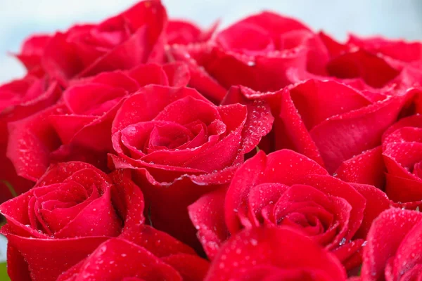
POLYGON ((338 260, 307 237, 289 228, 253 228, 231 237, 224 244, 205 280, 238 280, 243 270, 270 265, 286 270, 325 271, 331 280, 346 279, 338 260), (302 251, 313 258, 303 259, 302 251))

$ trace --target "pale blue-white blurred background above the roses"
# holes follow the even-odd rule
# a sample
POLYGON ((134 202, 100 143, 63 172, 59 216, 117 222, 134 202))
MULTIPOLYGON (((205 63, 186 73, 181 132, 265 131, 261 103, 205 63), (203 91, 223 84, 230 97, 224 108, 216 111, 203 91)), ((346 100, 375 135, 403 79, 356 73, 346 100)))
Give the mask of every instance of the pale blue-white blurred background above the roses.
MULTIPOLYGON (((20 77, 23 67, 10 53, 32 33, 65 30, 76 22, 98 22, 136 0, 0 0, 0 83, 20 77)), ((269 9, 290 15, 338 39, 347 32, 422 39, 421 0, 162 0, 172 18, 206 27, 217 18, 226 26, 245 15, 269 9)))

